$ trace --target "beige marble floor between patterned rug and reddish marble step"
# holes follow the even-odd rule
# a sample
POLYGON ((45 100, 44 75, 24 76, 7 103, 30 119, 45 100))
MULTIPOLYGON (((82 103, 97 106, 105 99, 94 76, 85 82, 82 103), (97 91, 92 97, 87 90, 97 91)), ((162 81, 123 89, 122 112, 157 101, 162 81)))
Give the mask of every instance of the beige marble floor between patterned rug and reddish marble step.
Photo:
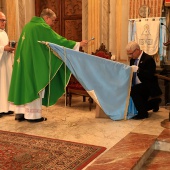
MULTIPOLYGON (((43 107, 42 115, 48 119, 44 122, 18 122, 14 115, 3 116, 0 118, 0 130, 105 146, 107 150, 98 157, 100 159, 129 134, 146 134, 151 138, 159 136, 165 129, 160 123, 169 116, 169 110, 162 106, 156 113, 149 112, 149 118, 144 120, 95 118, 95 104, 89 111, 88 101, 82 100, 82 97, 74 96, 69 107, 65 106, 63 96, 56 105, 43 107)), ((90 168, 95 161, 84 169, 90 168)))

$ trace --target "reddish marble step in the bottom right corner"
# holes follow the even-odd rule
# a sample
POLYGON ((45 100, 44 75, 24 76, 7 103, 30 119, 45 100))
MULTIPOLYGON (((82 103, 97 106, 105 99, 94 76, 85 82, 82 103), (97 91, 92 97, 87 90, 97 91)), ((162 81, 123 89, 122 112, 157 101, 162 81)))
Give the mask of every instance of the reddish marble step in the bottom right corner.
POLYGON ((158 167, 164 163, 170 169, 169 158, 170 129, 164 129, 159 136, 129 133, 86 170, 139 170, 146 167, 155 170, 156 161, 160 163, 158 167))

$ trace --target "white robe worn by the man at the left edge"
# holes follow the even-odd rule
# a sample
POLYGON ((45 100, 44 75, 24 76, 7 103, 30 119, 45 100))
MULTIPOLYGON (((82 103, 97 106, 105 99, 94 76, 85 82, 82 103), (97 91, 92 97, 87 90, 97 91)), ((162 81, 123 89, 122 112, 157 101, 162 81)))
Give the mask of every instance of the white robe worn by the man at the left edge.
POLYGON ((9 42, 7 33, 0 29, 0 112, 9 111, 8 93, 14 54, 4 51, 9 42))

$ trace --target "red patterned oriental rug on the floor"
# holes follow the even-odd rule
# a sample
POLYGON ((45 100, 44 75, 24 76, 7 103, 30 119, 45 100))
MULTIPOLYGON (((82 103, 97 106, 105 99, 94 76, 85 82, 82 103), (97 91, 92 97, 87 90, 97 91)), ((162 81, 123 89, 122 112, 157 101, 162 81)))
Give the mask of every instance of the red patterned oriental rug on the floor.
POLYGON ((81 170, 105 147, 0 131, 1 170, 81 170))

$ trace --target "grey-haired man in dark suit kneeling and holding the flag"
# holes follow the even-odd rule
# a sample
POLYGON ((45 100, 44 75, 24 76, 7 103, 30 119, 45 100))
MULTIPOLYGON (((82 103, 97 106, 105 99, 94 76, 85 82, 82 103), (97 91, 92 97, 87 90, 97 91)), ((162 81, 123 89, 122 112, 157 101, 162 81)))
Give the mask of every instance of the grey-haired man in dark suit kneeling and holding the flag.
POLYGON ((161 102, 162 91, 158 79, 154 75, 156 64, 153 57, 142 51, 134 41, 127 44, 126 51, 133 70, 130 95, 138 111, 134 119, 148 118, 148 111, 158 111, 161 102))

